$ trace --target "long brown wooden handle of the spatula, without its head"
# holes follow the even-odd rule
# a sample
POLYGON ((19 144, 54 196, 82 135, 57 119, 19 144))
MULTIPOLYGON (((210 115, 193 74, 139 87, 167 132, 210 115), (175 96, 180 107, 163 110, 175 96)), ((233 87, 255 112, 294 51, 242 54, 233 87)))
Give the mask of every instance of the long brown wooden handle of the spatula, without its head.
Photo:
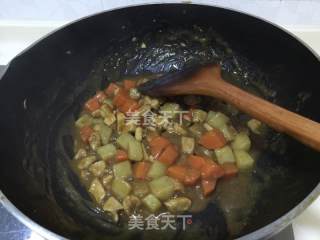
POLYGON ((256 97, 226 82, 215 81, 210 95, 320 151, 320 124, 256 97))

